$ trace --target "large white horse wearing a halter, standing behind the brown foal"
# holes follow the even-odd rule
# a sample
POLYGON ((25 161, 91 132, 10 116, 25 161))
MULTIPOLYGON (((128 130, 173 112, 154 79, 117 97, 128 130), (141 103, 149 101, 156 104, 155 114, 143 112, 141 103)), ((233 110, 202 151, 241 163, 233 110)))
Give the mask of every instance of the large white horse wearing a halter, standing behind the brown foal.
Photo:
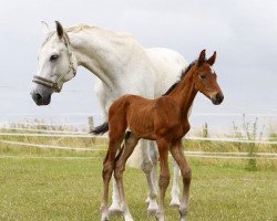
MULTIPOLYGON (((133 35, 112 32, 96 27, 79 24, 50 31, 43 23, 47 39, 39 53, 39 67, 33 76, 31 95, 37 105, 48 105, 53 92, 60 92, 64 82, 75 76, 79 65, 98 76, 95 91, 107 117, 110 105, 124 94, 136 94, 148 98, 161 96, 175 83, 187 65, 175 51, 161 48, 144 49, 133 35)), ((157 210, 157 150, 153 141, 142 140, 141 167, 146 175, 148 196, 147 212, 157 210), (146 148, 145 148, 146 147, 146 148)), ((137 154, 137 152, 136 152, 137 154)), ((178 167, 174 161, 172 206, 179 206, 178 167)), ((117 187, 113 182, 113 202, 110 214, 121 212, 117 187)), ((124 213, 125 220, 133 220, 124 213)))

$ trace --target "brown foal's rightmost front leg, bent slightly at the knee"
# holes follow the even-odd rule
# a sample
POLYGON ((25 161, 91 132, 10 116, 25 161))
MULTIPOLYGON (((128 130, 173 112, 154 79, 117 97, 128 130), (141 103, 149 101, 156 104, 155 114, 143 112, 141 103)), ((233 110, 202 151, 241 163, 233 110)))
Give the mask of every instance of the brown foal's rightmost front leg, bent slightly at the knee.
POLYGON ((185 221, 187 218, 187 204, 188 193, 192 180, 192 170, 185 159, 182 141, 178 141, 175 146, 171 147, 171 154, 179 166, 183 177, 183 197, 179 206, 181 221, 185 221))

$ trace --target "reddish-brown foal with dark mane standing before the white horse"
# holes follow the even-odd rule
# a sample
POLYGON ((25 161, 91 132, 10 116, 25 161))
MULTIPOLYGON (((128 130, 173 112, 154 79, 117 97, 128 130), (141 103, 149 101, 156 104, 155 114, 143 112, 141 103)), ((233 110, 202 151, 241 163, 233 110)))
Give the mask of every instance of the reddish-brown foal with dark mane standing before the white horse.
MULTIPOLYGON (((109 182, 114 171, 121 198, 121 209, 127 220, 133 220, 129 212, 123 189, 125 162, 141 138, 156 140, 160 154, 160 208, 155 214, 160 221, 165 220, 164 197, 170 183, 168 151, 179 166, 183 177, 183 197, 179 206, 181 220, 186 220, 188 191, 192 171, 183 154, 182 138, 189 130, 188 110, 197 92, 203 93, 213 104, 223 102, 223 93, 216 82, 216 74, 211 67, 216 52, 208 60, 205 50, 198 60, 193 62, 181 81, 175 83, 164 96, 147 99, 135 95, 125 95, 116 99, 109 110, 109 126, 99 133, 110 129, 110 143, 103 168, 104 196, 102 202, 102 221, 109 219, 107 197, 109 182), (126 133, 127 130, 127 133, 126 133), (121 143, 124 139, 124 146, 121 143), (116 156, 116 151, 120 150, 116 156)), ((135 181, 135 180, 134 180, 135 181)))

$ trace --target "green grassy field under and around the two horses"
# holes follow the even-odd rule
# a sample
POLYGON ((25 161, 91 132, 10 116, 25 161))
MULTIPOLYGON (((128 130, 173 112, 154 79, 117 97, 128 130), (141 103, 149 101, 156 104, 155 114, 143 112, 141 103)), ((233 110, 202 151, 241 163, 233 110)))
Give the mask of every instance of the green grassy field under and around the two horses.
MULTIPOLYGON (((6 137, 3 137, 6 138, 6 137)), ((19 138, 18 141, 72 147, 95 147, 103 151, 70 151, 34 147, 0 146, 0 220, 100 220, 102 159, 105 141, 70 138, 19 138), (41 158, 44 157, 44 158, 41 158)), ((247 145, 186 141, 186 150, 247 151, 247 145), (224 148, 224 149, 223 149, 224 148)), ((276 152, 276 146, 257 146, 276 152)), ((245 159, 188 158, 193 169, 189 220, 277 220, 277 160, 257 160, 248 171, 245 159)), ((127 201, 135 220, 147 218, 147 189, 140 169, 124 175, 127 201), (134 179, 135 178, 135 179, 134 179), (135 180, 135 182, 134 182, 135 180)), ((168 207, 168 221, 178 212, 168 207)), ((122 218, 112 218, 123 220, 122 218)))

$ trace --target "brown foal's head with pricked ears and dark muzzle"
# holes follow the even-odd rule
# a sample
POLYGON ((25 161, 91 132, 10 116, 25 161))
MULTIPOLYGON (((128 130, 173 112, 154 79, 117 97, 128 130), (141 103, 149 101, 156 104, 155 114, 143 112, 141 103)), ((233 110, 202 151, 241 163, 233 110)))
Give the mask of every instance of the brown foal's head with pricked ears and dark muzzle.
POLYGON ((206 59, 205 50, 199 54, 199 59, 195 63, 195 87, 209 98, 213 104, 218 105, 223 102, 224 96, 222 90, 216 81, 216 73, 213 70, 215 63, 216 52, 208 60, 206 59))

